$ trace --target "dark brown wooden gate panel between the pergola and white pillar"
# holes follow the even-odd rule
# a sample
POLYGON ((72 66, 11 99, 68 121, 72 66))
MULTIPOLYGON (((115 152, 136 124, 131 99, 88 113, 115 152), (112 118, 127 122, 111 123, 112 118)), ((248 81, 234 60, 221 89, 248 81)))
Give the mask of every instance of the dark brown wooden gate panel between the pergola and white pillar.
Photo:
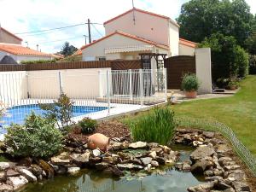
POLYGON ((167 89, 180 90, 185 73, 195 73, 195 56, 172 56, 165 60, 167 89))

